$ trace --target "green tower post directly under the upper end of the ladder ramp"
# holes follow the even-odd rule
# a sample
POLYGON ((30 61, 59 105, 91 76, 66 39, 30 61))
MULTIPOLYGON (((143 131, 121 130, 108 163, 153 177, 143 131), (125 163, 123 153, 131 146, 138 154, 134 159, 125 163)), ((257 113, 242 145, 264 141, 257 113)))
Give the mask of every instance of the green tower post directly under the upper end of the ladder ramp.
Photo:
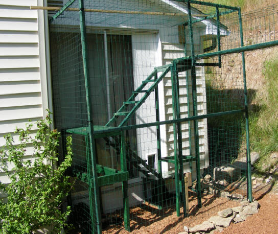
MULTIPOLYGON (((178 83, 178 72, 176 66, 177 64, 173 62, 173 77, 174 77, 174 89, 175 89, 175 100, 173 101, 176 106, 176 112, 177 112, 176 118, 180 119, 179 83, 178 83)), ((177 133, 178 133, 179 184, 181 188, 180 201, 183 206, 183 216, 186 216, 187 206, 186 206, 186 189, 185 189, 184 175, 183 175, 181 123, 177 123, 177 133)))

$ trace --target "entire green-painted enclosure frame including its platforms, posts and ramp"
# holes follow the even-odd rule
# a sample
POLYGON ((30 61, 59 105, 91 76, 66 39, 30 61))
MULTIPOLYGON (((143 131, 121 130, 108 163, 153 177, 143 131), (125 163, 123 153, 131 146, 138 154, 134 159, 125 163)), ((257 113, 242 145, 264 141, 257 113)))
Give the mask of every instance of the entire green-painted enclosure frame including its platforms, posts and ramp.
MULTIPOLYGON (((63 8, 58 11, 51 20, 59 17, 69 6, 71 6, 75 0, 68 1, 63 8)), ((201 182, 200 182, 200 152, 199 152, 199 130, 198 130, 198 120, 205 118, 214 118, 216 116, 235 114, 235 113, 245 113, 245 122, 246 122, 246 160, 247 160, 247 184, 248 184, 248 195, 247 199, 252 201, 252 188, 251 188, 251 164, 250 164, 250 147, 249 147, 249 126, 248 126, 248 100, 247 100, 247 86, 246 86, 246 72, 245 72, 245 57, 244 52, 250 50, 257 50, 263 48, 269 48, 270 46, 278 45, 278 40, 271 42, 258 43, 254 45, 244 46, 243 43, 243 29, 242 29, 242 18, 241 18, 241 9, 237 7, 230 7, 225 5, 213 4, 213 3, 204 3, 200 1, 193 0, 178 0, 178 2, 184 2, 188 5, 188 21, 183 25, 184 34, 186 34, 186 26, 189 27, 190 34, 190 45, 191 45, 191 56, 187 56, 186 43, 184 45, 184 56, 183 58, 174 59, 171 64, 164 66, 155 67, 154 71, 147 77, 142 84, 134 90, 131 97, 123 103, 123 106, 114 113, 113 117, 107 122, 105 126, 94 126, 92 123, 92 112, 91 112, 91 103, 90 103, 90 84, 88 79, 88 64, 87 64, 87 55, 86 55, 86 25, 85 25, 85 13, 84 13, 84 0, 79 0, 79 17, 80 17, 80 33, 81 33, 81 45, 82 45, 82 57, 83 57, 83 69, 84 69, 84 79, 85 79, 85 91, 86 91, 86 106, 87 106, 87 122, 86 127, 67 129, 67 134, 79 134, 85 136, 86 142, 86 163, 87 163, 87 173, 82 173, 77 170, 72 170, 72 174, 83 182, 87 183, 89 186, 89 205, 90 205, 90 216, 91 220, 95 219, 97 221, 96 225, 92 225, 92 233, 102 233, 101 226, 101 212, 100 212, 100 193, 99 187, 113 184, 116 182, 122 182, 122 193, 123 193, 123 204, 124 204, 124 225, 126 230, 130 231, 129 223, 129 201, 128 201, 128 172, 127 172, 127 155, 126 155, 126 139, 125 131, 137 128, 146 128, 151 126, 156 126, 156 136, 157 136, 157 158, 158 158, 158 172, 152 170, 147 163, 138 157, 135 153, 133 155, 139 163, 141 163, 147 170, 149 170, 153 175, 158 178, 158 208, 163 208, 163 198, 162 198, 162 189, 164 185, 164 180, 162 177, 161 162, 170 162, 175 165, 175 190, 176 190, 176 214, 180 216, 180 204, 183 206, 183 215, 186 216, 186 198, 185 198, 185 185, 184 185, 184 176, 183 176, 183 163, 190 162, 190 170, 192 171, 192 161, 196 161, 196 176, 197 176, 197 201, 198 207, 202 206, 201 203, 201 182), (192 20, 191 14, 191 4, 199 4, 203 6, 215 7, 215 14, 201 17, 199 19, 192 20), (225 12, 219 12, 220 8, 227 9, 225 12), (221 37, 220 37, 220 19, 219 16, 233 13, 238 11, 239 16, 239 25, 240 25, 240 38, 241 38, 241 47, 230 49, 230 50, 221 50, 221 37), (217 52, 204 53, 200 55, 195 55, 194 51, 194 39, 193 39, 193 24, 200 22, 205 19, 211 19, 216 17, 216 26, 217 26, 217 52), (232 111, 223 111, 211 114, 202 114, 198 115, 197 113, 197 84, 196 84, 196 66, 219 66, 221 67, 221 56, 231 53, 242 53, 242 64, 243 64, 243 82, 244 82, 244 109, 232 110, 232 111), (198 63, 198 59, 215 57, 218 56, 218 63, 198 63), (192 107, 193 115, 191 116, 191 107, 190 107, 190 95, 189 95, 189 74, 188 71, 191 70, 191 83, 192 83, 192 107), (178 73, 186 71, 186 82, 187 82, 187 101, 188 101, 188 117, 180 118, 180 103, 179 103, 179 78, 178 73), (162 72, 158 77, 157 73, 162 72), (172 84, 172 107, 173 107, 173 120, 160 121, 159 120, 159 100, 158 100, 158 83, 163 80, 163 78, 171 72, 171 84, 172 84), (151 83, 150 88, 144 90, 144 87, 151 83), (135 113, 135 111, 140 108, 144 101, 149 97, 150 93, 155 93, 155 110, 156 110, 156 121, 153 123, 147 124, 136 124, 136 125, 126 125, 130 116, 135 113), (138 93, 144 93, 143 97, 135 101, 138 93), (128 105, 134 105, 130 111, 126 111, 128 105), (119 116, 125 116, 124 120, 119 124, 118 127, 110 127, 111 124, 119 118, 119 116), (190 137, 190 154, 182 155, 182 136, 181 136, 181 123, 188 122, 189 124, 189 137, 190 137), (193 123, 194 131, 191 132, 191 127, 193 123), (174 156, 167 156, 161 158, 161 139, 160 139, 160 125, 173 124, 174 127, 174 156), (192 134, 195 141, 195 152, 192 153, 192 134), (119 137, 118 143, 120 143, 120 158, 121 158, 121 170, 115 170, 105 166, 97 164, 97 155, 96 155, 96 138, 106 138, 107 137, 119 137), (98 176, 98 173, 101 174, 98 176), (93 199, 95 202, 93 202, 93 199)), ((186 38, 187 35, 184 35, 186 38)), ((186 42, 186 41, 185 41, 186 42)), ((109 139, 107 140, 109 141, 109 139)), ((117 143, 117 142, 116 142, 117 143)))

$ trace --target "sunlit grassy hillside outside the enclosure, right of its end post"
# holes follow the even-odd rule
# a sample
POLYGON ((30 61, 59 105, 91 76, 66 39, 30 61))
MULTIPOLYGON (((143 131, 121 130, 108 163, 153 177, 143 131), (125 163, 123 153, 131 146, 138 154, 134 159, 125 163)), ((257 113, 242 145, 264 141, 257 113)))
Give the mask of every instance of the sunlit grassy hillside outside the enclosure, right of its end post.
MULTIPOLYGON (((242 12, 254 11, 258 6, 277 4, 275 0, 205 0, 224 5, 239 6, 242 12)), ((277 20, 276 20, 277 21, 277 20)), ((262 22, 263 24, 263 22, 262 22)), ((262 31, 263 29, 262 25, 262 31)), ((278 152, 278 48, 245 53, 246 78, 249 94, 249 128, 251 152, 260 153, 255 165, 259 171, 269 166, 270 154, 278 152)), ((231 68, 231 72, 240 64, 231 68)), ((229 121, 229 120, 227 120, 229 121)), ((242 133, 244 137, 244 131, 242 133)), ((242 141, 242 153, 244 149, 242 141)), ((243 155, 244 156, 244 153, 243 155)))

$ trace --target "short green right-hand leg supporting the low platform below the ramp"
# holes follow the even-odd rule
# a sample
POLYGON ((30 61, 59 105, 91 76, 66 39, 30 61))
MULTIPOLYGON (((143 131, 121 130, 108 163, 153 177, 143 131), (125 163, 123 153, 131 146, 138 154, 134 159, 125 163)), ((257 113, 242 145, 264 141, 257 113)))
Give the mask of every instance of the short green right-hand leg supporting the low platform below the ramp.
MULTIPOLYGON (((126 165, 126 146, 125 135, 121 132, 121 171, 127 171, 126 165)), ((127 180, 122 182, 123 204, 124 204, 124 223, 127 231, 130 231, 129 225, 129 202, 128 202, 128 184, 127 180)))

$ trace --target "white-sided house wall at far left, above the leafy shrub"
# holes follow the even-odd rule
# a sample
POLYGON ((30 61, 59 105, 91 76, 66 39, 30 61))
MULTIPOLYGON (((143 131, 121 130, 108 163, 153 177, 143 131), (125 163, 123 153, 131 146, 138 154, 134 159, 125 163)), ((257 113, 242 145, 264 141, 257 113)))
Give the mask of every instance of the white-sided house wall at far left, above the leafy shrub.
MULTIPOLYGON (((42 1, 0 0, 0 146, 5 134, 42 119, 48 108, 43 12, 30 10, 37 5, 42 1)), ((18 136, 12 135, 18 144, 18 136)), ((32 154, 28 145, 25 158, 32 154)), ((0 180, 9 182, 3 172, 0 180)))

